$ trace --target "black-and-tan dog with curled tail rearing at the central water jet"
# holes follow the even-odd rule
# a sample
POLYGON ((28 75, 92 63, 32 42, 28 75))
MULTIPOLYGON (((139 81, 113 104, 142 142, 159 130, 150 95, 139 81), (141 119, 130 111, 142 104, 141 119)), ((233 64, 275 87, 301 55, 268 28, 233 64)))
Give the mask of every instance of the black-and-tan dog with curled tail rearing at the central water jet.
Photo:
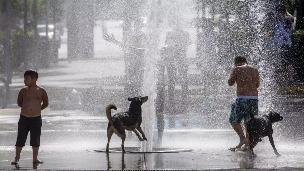
POLYGON ((107 143, 106 152, 109 152, 109 143, 113 133, 115 133, 121 138, 122 140, 121 148, 123 153, 125 153, 125 148, 124 148, 124 142, 126 140, 125 130, 133 131, 140 141, 143 140, 147 141, 147 138, 143 133, 143 130, 141 129, 140 125, 142 122, 141 105, 147 102, 148 96, 145 97, 138 96, 133 98, 129 97, 128 100, 131 101, 129 111, 116 113, 115 115, 111 116, 111 109, 117 110, 117 107, 114 104, 109 104, 105 108, 105 113, 109 120, 108 130, 107 130, 108 143, 107 143), (138 132, 140 132, 142 137, 140 137, 140 134, 138 132))

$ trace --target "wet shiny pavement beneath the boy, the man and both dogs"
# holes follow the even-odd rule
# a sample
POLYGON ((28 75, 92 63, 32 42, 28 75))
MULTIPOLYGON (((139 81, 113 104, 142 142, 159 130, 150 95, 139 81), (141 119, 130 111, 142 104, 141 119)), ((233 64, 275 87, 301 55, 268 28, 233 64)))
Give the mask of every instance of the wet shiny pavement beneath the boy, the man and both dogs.
MULTIPOLYGON (((254 149, 255 160, 245 152, 231 152, 238 143, 232 129, 191 128, 165 129, 163 148, 190 148, 192 152, 121 154, 94 152, 105 148, 106 118, 81 111, 43 111, 39 157, 45 163, 40 169, 231 169, 304 167, 303 136, 287 138, 284 130, 274 127, 274 140, 281 157, 276 157, 267 138, 254 149)), ((13 168, 17 136, 18 109, 0 110, 0 168, 13 168)), ((295 126, 295 125, 293 125, 295 126)), ((300 125, 299 125, 300 126, 300 125)), ((301 127, 301 126, 300 126, 301 127)), ((157 131, 154 131, 156 137, 157 131)), ((153 140, 149 140, 153 141, 153 140)), ((110 148, 120 147, 113 135, 110 148)), ((19 166, 33 168, 29 137, 19 166)), ((139 147, 135 135, 127 137, 125 147, 139 147)))

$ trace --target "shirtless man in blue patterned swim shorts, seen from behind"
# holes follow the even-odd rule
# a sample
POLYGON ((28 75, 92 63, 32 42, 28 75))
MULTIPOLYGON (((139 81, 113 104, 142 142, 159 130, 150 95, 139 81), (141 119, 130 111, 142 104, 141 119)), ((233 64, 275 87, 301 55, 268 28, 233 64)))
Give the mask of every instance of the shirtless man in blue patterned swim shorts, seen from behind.
POLYGON ((258 114, 258 91, 260 86, 260 75, 257 68, 247 64, 243 56, 237 56, 234 59, 235 68, 230 75, 228 84, 230 86, 237 82, 237 99, 231 106, 229 122, 240 137, 240 143, 235 148, 241 148, 244 144, 248 145, 249 138, 247 132, 247 122, 250 119, 250 113, 258 114), (241 127, 241 121, 244 119, 246 137, 241 127))

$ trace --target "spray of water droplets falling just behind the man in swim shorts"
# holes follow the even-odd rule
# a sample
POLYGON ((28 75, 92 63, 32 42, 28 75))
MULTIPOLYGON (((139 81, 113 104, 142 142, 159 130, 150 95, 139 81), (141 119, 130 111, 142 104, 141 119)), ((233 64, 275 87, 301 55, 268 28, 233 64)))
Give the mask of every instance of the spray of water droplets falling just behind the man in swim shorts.
MULTIPOLYGON (((250 48, 250 59, 253 61, 260 72, 261 87, 259 89, 259 110, 267 111, 271 110, 273 107, 273 99, 275 96, 274 89, 271 85, 275 85, 273 80, 273 69, 271 63, 269 62, 268 51, 267 51, 267 36, 265 36, 264 21, 266 18, 265 11, 268 11, 265 1, 257 0, 252 1, 249 5, 249 17, 248 19, 253 19, 253 23, 247 23, 250 31, 254 32, 251 37, 252 44, 248 44, 250 48)), ((251 21, 251 22, 252 22, 251 21)))

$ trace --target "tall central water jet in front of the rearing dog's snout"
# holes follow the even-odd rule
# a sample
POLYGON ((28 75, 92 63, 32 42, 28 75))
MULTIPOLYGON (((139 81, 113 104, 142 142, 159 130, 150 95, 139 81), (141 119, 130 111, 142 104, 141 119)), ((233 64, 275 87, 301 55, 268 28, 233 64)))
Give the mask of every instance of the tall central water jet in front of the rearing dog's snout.
POLYGON ((141 143, 141 152, 151 152, 153 147, 153 130, 154 130, 154 118, 155 108, 154 101, 156 99, 156 81, 157 81, 157 48, 159 44, 159 17, 160 17, 160 1, 152 0, 147 5, 150 16, 147 26, 147 54, 146 54, 146 66, 143 82, 143 95, 149 96, 147 104, 143 106, 143 132, 145 133, 148 141, 141 143))

